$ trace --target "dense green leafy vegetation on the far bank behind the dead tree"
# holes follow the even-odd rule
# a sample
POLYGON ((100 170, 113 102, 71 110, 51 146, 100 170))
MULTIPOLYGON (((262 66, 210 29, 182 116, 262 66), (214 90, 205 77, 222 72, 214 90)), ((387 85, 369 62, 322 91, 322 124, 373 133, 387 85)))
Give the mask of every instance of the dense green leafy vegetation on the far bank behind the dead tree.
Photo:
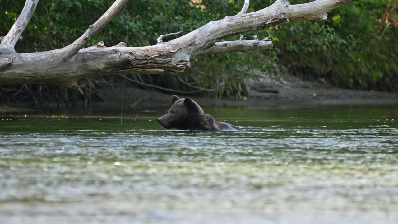
MULTIPOLYGON (((41 0, 16 50, 34 52, 64 47, 82 35, 113 2, 41 0)), ((88 46, 97 41, 104 41, 107 46, 121 41, 130 47, 154 45, 161 34, 183 30, 183 35, 209 21, 233 16, 241 10, 243 2, 132 0, 88 46)), ((273 2, 275 0, 251 1, 248 12, 273 2)), ((310 0, 291 0, 291 4, 306 2, 310 0)), ((24 3, 24 0, 0 1, 0 36, 7 34, 24 3)), ((191 60, 193 69, 182 76, 148 75, 140 79, 181 91, 207 88, 216 94, 236 96, 244 93, 244 79, 252 75, 253 69, 270 75, 279 70, 308 80, 322 78, 343 88, 397 91, 397 8, 397 0, 356 1, 330 12, 329 20, 324 23, 294 22, 277 29, 244 33, 248 39, 253 39, 255 34, 260 39, 271 36, 273 47, 268 52, 196 57, 191 60), (195 83, 197 88, 181 80, 195 83)), ((176 37, 167 37, 165 41, 172 38, 176 37)), ((111 79, 96 78, 96 84, 109 85, 111 79)))

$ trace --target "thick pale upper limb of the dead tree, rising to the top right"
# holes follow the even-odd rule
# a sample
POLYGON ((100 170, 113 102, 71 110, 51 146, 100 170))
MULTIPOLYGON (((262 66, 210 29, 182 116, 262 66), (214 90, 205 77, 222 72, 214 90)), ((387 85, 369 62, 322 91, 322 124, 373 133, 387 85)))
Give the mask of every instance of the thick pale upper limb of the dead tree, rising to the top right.
MULTIPOLYGON (((291 5, 287 0, 277 0, 271 6, 256 12, 226 17, 190 32, 182 37, 169 41, 170 46, 189 47, 189 53, 212 47, 219 39, 239 33, 261 30, 279 24, 301 21, 327 19, 330 10, 338 8, 353 0, 315 0, 306 4, 291 5)), ((181 49, 178 47, 178 49, 181 49)))

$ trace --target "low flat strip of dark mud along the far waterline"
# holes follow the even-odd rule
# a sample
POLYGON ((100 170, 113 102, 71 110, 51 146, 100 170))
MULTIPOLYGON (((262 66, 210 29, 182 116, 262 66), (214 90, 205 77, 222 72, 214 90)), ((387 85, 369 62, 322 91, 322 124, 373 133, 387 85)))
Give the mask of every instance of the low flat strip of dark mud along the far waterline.
MULTIPOLYGON (((122 105, 119 89, 100 90, 105 102, 93 102, 92 107, 118 107, 122 105)), ((125 108, 167 108, 171 104, 171 95, 161 92, 129 88, 123 93, 125 108)), ((183 94, 179 95, 185 97, 183 94)), ((398 105, 398 94, 391 92, 370 92, 341 88, 279 88, 279 93, 261 93, 250 91, 249 96, 241 98, 191 97, 205 108, 239 107, 247 109, 293 109, 328 106, 360 105, 398 105)), ((57 108, 58 105, 48 108, 57 108)), ((68 108, 70 106, 62 106, 68 108)), ((77 107, 84 108, 84 105, 77 107)), ((0 112, 22 112, 35 110, 34 104, 0 103, 0 112)))

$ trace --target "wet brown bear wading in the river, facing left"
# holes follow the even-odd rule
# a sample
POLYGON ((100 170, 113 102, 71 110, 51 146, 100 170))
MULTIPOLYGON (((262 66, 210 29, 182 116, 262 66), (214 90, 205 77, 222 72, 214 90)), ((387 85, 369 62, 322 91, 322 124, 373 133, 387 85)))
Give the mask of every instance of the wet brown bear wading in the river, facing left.
POLYGON ((158 122, 166 129, 191 131, 238 131, 239 128, 215 121, 212 116, 205 114, 202 108, 191 98, 172 96, 172 107, 167 114, 158 118, 158 122))

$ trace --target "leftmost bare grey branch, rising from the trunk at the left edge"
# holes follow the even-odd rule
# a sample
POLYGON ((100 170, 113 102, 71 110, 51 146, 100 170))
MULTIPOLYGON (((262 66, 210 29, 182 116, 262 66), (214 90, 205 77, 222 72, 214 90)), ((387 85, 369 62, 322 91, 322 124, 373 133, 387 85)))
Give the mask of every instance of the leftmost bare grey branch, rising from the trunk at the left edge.
POLYGON ((18 39, 20 39, 23 30, 29 23, 30 18, 32 18, 38 2, 39 0, 26 0, 20 16, 18 16, 18 19, 15 21, 14 25, 12 25, 7 35, 3 37, 0 45, 9 44, 12 47, 15 47, 15 44, 18 42, 18 39))

